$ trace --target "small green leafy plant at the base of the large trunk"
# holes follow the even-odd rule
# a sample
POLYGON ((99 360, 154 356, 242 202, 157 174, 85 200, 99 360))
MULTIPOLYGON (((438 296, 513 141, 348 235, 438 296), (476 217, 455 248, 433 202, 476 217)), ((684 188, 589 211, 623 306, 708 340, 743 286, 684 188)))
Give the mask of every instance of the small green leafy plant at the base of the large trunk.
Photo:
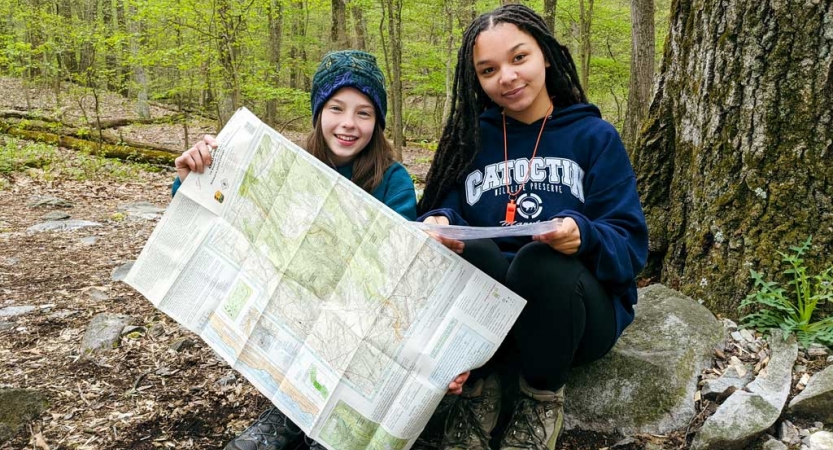
POLYGON ((740 309, 756 311, 742 317, 741 323, 759 331, 779 328, 785 336, 795 333, 804 347, 818 342, 833 348, 833 317, 812 321, 816 308, 833 297, 833 266, 815 276, 807 274, 803 255, 812 238, 790 247, 792 253, 778 252, 788 266, 784 275, 791 278, 789 291, 774 281, 764 280, 761 273, 749 271, 756 290, 741 302, 740 309))

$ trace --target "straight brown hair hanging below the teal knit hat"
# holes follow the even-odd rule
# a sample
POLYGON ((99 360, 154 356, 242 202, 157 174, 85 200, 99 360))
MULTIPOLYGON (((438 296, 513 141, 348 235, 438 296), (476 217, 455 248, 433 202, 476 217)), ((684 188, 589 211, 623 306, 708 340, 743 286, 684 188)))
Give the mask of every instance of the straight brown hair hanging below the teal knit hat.
MULTIPOLYGON (((315 121, 312 133, 307 136, 307 152, 320 159, 330 167, 335 167, 330 148, 324 140, 324 133, 321 131, 321 114, 315 121)), ((384 129, 379 120, 373 126, 373 136, 365 148, 356 155, 353 160, 353 178, 350 180, 356 186, 372 194, 373 190, 382 182, 385 171, 393 163, 393 148, 390 142, 385 139, 384 129)))

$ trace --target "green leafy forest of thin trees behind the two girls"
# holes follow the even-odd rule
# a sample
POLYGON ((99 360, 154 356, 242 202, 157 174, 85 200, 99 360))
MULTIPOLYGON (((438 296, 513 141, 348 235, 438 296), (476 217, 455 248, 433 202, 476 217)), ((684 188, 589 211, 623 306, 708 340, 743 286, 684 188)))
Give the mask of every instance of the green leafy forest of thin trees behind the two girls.
MULTIPOLYGON (((667 34, 670 0, 659 0, 656 13, 653 2, 524 2, 546 17, 574 55, 589 98, 620 129, 628 107, 631 3, 643 5, 648 18, 640 20, 651 26, 650 42, 643 45, 650 50, 650 71, 642 77, 648 90, 659 61, 654 48, 662 48, 667 34)), ((321 57, 331 50, 364 49, 386 72, 389 132, 401 149, 406 138, 439 137, 462 32, 477 14, 499 4, 2 0, 0 67, 29 86, 53 90, 57 108, 67 101, 89 102, 90 94, 107 90, 137 99, 141 117, 150 115, 148 101, 164 101, 186 114, 214 117, 219 127, 245 105, 275 128, 305 130, 310 79, 321 57)), ((647 102, 641 100, 643 109, 647 102)), ((94 123, 95 105, 86 111, 94 123)))

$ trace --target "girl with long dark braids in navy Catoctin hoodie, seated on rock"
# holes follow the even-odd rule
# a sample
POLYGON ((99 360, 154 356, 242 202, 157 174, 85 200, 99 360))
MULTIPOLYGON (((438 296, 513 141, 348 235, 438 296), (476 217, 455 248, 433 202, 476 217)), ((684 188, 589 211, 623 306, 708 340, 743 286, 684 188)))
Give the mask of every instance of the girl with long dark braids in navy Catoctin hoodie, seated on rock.
POLYGON ((604 356, 633 321, 634 279, 648 251, 636 178, 618 133, 587 102, 569 51, 523 5, 468 27, 453 93, 418 220, 556 222, 532 237, 437 237, 527 300, 495 356, 464 381, 441 448, 488 449, 509 380, 519 393, 495 441, 554 449, 570 368, 604 356))

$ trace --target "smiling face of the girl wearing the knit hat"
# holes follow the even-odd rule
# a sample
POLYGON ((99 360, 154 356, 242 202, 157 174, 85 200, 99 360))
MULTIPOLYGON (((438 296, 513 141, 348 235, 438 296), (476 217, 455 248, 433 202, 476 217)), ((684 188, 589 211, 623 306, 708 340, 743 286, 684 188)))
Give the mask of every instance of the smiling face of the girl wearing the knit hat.
POLYGON ((364 150, 375 126, 373 102, 355 88, 339 89, 321 108, 321 132, 337 167, 347 165, 364 150))

